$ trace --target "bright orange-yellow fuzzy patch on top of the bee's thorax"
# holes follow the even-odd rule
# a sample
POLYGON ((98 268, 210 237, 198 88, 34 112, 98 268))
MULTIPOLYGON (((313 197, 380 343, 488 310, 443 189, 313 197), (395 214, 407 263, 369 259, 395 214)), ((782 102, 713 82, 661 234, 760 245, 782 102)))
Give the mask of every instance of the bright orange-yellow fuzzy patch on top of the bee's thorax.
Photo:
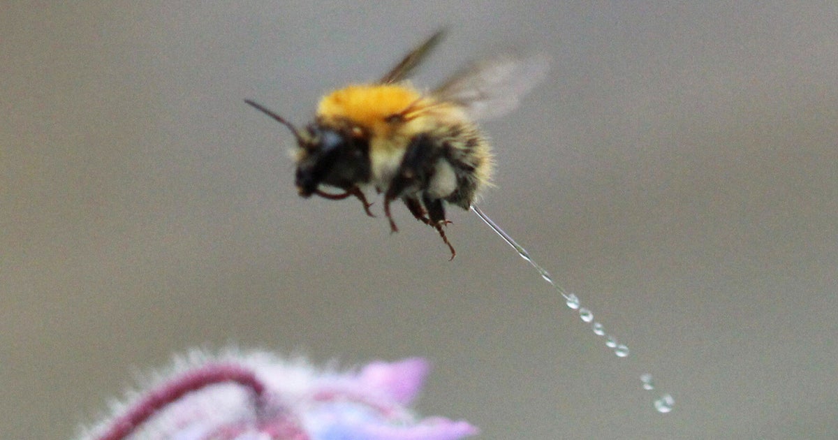
POLYGON ((389 130, 388 116, 400 114, 411 106, 422 106, 425 99, 406 84, 349 85, 323 96, 317 115, 328 120, 349 121, 381 136, 389 130))

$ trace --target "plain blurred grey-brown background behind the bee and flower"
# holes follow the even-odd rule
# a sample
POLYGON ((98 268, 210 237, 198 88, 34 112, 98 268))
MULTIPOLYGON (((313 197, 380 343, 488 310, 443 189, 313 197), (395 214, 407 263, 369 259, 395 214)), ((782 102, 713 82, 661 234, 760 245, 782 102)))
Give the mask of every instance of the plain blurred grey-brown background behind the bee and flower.
POLYGON ((834 438, 838 6, 554 3, 4 3, 0 437, 71 437, 235 344, 425 356, 418 409, 485 439, 834 438), (391 236, 297 197, 292 137, 242 101, 306 122, 442 26, 419 85, 551 55, 484 124, 481 206, 628 358, 471 213, 449 262, 401 205, 391 236))

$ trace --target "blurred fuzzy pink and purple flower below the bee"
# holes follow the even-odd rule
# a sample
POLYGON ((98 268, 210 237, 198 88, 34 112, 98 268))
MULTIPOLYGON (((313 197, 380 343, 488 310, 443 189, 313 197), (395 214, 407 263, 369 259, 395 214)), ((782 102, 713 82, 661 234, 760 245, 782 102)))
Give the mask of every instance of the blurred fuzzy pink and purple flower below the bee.
POLYGON ((194 352, 153 385, 111 408, 80 440, 456 440, 468 422, 417 419, 406 408, 425 360, 374 362, 360 371, 317 371, 255 352, 194 352))

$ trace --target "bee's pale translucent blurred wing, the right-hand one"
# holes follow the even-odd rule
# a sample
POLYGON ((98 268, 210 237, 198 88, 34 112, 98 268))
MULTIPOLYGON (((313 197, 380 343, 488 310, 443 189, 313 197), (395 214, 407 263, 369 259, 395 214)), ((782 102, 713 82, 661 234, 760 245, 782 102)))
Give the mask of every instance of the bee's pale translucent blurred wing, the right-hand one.
POLYGON ((503 116, 546 76, 546 55, 503 55, 484 60, 453 75, 432 96, 463 106, 474 119, 503 116))

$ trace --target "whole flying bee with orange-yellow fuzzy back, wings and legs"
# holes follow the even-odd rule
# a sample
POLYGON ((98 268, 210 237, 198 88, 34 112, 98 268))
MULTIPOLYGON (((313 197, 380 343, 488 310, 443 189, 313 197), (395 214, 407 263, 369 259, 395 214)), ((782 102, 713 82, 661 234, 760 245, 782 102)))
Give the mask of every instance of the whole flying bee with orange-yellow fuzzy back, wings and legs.
POLYGON ((429 92, 406 78, 442 39, 433 34, 396 67, 372 83, 353 84, 323 96, 314 121, 298 129, 254 101, 246 103, 291 130, 297 141, 295 184, 308 198, 360 199, 365 189, 384 194, 391 232, 398 227, 391 203, 401 200, 416 220, 445 234, 446 204, 468 210, 491 183, 494 160, 476 121, 517 106, 546 72, 546 58, 499 56, 460 70, 429 92), (332 187, 341 192, 327 192, 332 187))

